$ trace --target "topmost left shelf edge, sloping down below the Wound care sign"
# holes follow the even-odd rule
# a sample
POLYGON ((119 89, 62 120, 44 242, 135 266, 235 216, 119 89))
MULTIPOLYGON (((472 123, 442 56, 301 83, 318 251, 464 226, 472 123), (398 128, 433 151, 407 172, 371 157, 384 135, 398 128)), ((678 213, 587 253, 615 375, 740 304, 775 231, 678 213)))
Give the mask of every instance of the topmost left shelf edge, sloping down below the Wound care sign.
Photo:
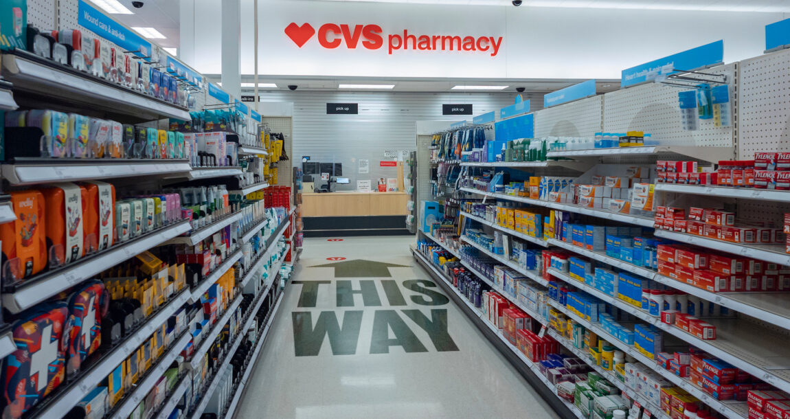
POLYGON ((2 74, 14 89, 78 103, 83 108, 125 115, 129 119, 190 119, 189 111, 141 92, 124 89, 70 67, 42 59, 27 51, 3 52, 2 74))

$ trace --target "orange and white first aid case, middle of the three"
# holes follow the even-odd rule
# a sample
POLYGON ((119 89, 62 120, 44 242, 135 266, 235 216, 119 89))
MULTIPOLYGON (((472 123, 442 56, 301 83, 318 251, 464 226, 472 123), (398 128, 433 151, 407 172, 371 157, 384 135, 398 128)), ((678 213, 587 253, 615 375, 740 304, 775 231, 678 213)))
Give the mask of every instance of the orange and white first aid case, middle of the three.
POLYGON ((59 264, 73 262, 85 255, 85 187, 75 183, 55 183, 41 190, 47 200, 47 247, 59 264))

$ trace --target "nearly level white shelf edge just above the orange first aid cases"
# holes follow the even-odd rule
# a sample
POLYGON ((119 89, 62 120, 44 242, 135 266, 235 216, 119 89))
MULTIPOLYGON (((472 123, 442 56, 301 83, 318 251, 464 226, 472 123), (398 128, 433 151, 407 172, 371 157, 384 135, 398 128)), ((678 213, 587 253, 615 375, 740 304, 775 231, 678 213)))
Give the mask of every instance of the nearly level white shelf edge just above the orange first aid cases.
MULTIPOLYGON (((190 172, 189 160, 83 160, 15 159, 2 164, 3 179, 13 185, 33 185, 91 179, 134 176, 168 177, 190 172)), ((239 171, 240 172, 240 171, 239 171)))

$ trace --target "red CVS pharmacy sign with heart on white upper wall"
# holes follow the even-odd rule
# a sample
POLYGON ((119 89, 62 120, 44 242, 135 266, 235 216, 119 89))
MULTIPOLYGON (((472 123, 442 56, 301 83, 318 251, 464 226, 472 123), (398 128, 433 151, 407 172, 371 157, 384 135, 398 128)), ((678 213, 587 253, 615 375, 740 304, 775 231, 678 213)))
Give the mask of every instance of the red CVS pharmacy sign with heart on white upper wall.
POLYGON ((502 36, 460 36, 460 35, 416 35, 408 29, 402 32, 384 33, 379 25, 337 25, 327 23, 318 27, 304 23, 297 25, 292 22, 285 27, 285 35, 303 47, 314 35, 318 44, 326 49, 334 49, 345 45, 354 50, 360 45, 368 50, 378 50, 385 46, 389 55, 394 51, 447 51, 458 53, 487 53, 495 57, 502 47, 502 36))

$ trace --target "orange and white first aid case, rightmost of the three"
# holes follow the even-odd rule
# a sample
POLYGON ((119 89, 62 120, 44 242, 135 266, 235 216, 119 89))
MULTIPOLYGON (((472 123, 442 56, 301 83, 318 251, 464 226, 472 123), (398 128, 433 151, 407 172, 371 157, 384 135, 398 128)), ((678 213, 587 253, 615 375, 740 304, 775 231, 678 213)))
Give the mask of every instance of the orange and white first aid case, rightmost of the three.
POLYGON ((88 199, 82 202, 85 213, 85 247, 102 251, 111 247, 115 237, 115 187, 106 182, 80 183, 88 199))

